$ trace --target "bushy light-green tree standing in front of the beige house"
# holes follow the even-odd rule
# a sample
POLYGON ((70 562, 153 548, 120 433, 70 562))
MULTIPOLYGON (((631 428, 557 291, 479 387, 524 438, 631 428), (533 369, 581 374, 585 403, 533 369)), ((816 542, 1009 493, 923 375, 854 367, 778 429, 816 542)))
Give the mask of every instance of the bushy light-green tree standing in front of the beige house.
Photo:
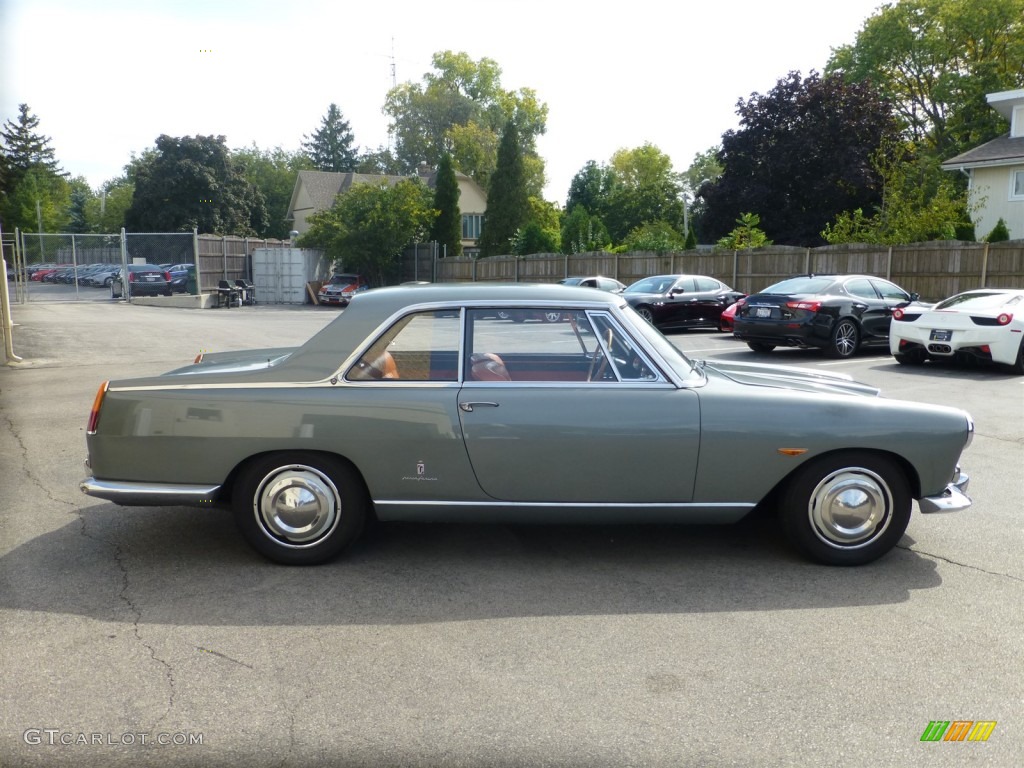
POLYGON ((418 179, 355 184, 332 208, 309 217, 298 243, 324 249, 336 265, 382 286, 396 274, 402 251, 430 231, 436 213, 433 195, 418 179))

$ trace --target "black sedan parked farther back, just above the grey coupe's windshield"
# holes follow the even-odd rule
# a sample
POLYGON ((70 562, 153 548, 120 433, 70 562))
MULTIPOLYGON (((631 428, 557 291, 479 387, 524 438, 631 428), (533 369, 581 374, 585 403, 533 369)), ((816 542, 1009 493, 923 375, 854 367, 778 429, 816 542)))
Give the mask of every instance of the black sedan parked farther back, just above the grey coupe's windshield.
POLYGON ((744 296, 702 274, 658 274, 637 281, 623 298, 662 331, 718 328, 722 310, 744 296))

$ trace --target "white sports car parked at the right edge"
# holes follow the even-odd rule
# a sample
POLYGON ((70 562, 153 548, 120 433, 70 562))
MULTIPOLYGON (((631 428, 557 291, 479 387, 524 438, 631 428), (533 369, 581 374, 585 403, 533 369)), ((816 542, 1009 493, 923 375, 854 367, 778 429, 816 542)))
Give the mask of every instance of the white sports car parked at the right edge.
POLYGON ((1024 375, 1024 289, 966 291, 922 311, 893 311, 889 349, 897 362, 975 358, 1024 375))

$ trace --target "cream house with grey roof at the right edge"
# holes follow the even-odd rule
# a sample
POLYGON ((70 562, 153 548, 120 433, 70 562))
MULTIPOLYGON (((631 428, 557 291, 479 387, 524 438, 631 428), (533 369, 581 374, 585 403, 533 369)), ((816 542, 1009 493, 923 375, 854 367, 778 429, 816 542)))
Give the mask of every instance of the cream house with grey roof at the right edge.
POLYGON ((1010 121, 1010 133, 950 158, 943 170, 966 173, 975 208, 975 232, 986 237, 1001 218, 1011 240, 1024 240, 1024 89, 987 95, 1010 121))

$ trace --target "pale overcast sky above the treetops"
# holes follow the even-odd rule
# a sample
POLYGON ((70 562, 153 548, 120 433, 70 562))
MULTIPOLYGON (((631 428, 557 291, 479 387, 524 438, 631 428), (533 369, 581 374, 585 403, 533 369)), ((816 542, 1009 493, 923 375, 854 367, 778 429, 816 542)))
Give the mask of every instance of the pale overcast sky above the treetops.
POLYGON ((677 171, 735 128, 736 101, 821 72, 880 0, 0 0, 0 119, 28 103, 92 186, 161 133, 294 151, 337 103, 360 148, 388 141, 397 81, 436 51, 488 57, 549 108, 548 200, 620 148, 677 171))

